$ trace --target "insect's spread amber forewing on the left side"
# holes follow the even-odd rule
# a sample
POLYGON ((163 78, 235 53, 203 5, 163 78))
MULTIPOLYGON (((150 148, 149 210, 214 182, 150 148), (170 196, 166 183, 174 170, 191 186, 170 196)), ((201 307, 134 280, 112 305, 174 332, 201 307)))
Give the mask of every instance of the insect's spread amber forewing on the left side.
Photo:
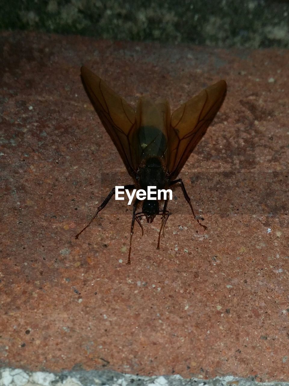
POLYGON ((102 124, 113 139, 129 174, 134 177, 138 166, 131 146, 136 127, 134 109, 84 66, 81 67, 81 77, 102 124))

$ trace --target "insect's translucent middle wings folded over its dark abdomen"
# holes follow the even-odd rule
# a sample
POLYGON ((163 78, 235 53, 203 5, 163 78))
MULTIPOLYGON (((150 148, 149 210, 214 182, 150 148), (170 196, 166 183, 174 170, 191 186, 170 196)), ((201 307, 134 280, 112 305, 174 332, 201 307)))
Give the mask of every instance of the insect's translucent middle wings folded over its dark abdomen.
POLYGON ((141 97, 136 108, 136 127, 134 143, 137 159, 141 163, 148 157, 160 157, 167 164, 168 132, 170 126, 170 105, 166 100, 153 102, 141 97))

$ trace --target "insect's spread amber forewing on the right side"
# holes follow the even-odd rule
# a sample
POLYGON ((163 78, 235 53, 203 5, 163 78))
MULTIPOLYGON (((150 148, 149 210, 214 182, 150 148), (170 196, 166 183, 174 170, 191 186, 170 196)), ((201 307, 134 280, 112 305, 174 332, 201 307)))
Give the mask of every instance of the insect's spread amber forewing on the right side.
POLYGON ((220 80, 184 103, 171 115, 168 171, 175 178, 222 105, 227 84, 220 80))

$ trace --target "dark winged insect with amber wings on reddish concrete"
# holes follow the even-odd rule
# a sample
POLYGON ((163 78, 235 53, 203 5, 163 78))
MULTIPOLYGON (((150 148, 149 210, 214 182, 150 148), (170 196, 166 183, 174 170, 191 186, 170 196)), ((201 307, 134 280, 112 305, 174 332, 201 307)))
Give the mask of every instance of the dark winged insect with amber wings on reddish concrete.
MULTIPOLYGON (((140 188, 147 191, 148 186, 167 189, 179 184, 190 205, 193 217, 199 225, 207 229, 195 216, 182 179, 176 179, 176 177, 222 105, 227 90, 226 82, 220 80, 209 86, 171 114, 166 100, 153 102, 148 97, 139 99, 135 112, 101 78, 84 66, 81 67, 81 77, 92 105, 134 180, 133 185, 126 185, 124 189, 140 188)), ((86 227, 75 236, 76 239, 89 227, 114 193, 115 188, 97 208, 86 227)), ((157 249, 160 249, 161 233, 165 235, 164 229, 170 215, 167 210, 168 199, 164 201, 161 209, 158 200, 146 198, 141 212, 137 212, 138 204, 139 200, 136 198, 133 204, 127 264, 131 262, 131 242, 135 220, 140 225, 143 235, 141 217, 145 216, 147 222, 152 223, 156 215, 161 215, 157 245, 157 249)))

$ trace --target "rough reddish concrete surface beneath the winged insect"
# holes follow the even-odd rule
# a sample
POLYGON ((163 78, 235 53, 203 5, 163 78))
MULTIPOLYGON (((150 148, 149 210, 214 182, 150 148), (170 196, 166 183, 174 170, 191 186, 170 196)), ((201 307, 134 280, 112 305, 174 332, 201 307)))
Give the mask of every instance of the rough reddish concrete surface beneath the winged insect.
POLYGON ((23 32, 1 45, 1 364, 288 380, 289 52, 23 32), (227 81, 181 173, 207 231, 178 188, 160 251, 160 218, 143 237, 136 224, 131 266, 124 202, 74 240, 101 195, 131 181, 82 64, 134 106, 149 93, 173 109, 227 81), (101 189, 114 171, 125 181, 101 189))

